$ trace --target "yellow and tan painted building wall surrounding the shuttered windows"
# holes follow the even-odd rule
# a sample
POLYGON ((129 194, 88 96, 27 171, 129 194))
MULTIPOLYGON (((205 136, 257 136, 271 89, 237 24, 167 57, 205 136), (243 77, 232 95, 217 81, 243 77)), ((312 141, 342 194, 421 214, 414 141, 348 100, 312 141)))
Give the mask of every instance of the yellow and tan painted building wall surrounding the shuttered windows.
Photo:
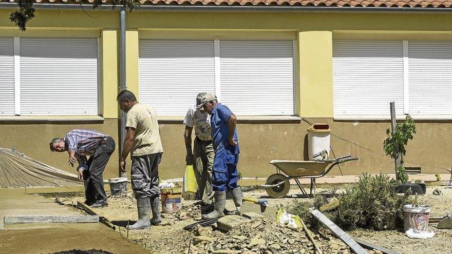
MULTIPOLYGON (((18 31, 9 21, 11 10, 0 9, 0 36, 100 36, 101 49, 101 111, 107 120, 87 122, 40 123, 26 120, 5 123, 0 119, 0 147, 17 145, 32 158, 61 166, 73 172, 64 154, 50 153, 47 144, 54 136, 62 136, 73 128, 93 128, 115 137, 118 133, 116 94, 119 82, 119 12, 37 10, 26 32, 18 31), (31 137, 31 138, 30 138, 31 137), (38 147, 38 149, 35 149, 38 147)), ((391 161, 384 157, 382 142, 387 122, 359 123, 333 121, 332 118, 332 40, 452 40, 452 13, 308 13, 308 12, 127 12, 126 82, 138 94, 139 38, 257 38, 270 40, 293 36, 297 40, 296 112, 312 122, 331 125, 335 136, 332 146, 336 155, 351 153, 360 161, 343 165, 345 174, 362 171, 392 172, 391 161), (370 134, 369 134, 370 133, 370 134), (370 137, 370 138, 369 138, 370 137), (353 143, 344 141, 348 140, 353 143), (366 149, 364 149, 364 148, 366 149), (369 152, 370 149, 372 152, 369 152)), ((44 121, 45 122, 45 121, 44 121)), ((446 123, 419 123, 418 134, 410 143, 407 166, 423 166, 426 173, 444 173, 437 167, 450 165, 452 148, 435 146, 452 130, 446 123), (425 133, 425 134, 424 134, 425 133), (438 149, 437 149, 438 148, 438 149), (449 149, 450 148, 450 149, 449 149), (434 160, 433 154, 445 161, 434 160), (431 152, 430 152, 431 153, 431 152), (448 159, 447 159, 448 158, 448 159), (415 162, 415 163, 412 163, 415 162)), ((274 172, 268 164, 273 159, 303 159, 307 124, 295 121, 239 123, 242 144, 240 170, 246 177, 267 177, 274 172)), ((178 178, 184 169, 183 125, 181 122, 160 125, 165 149, 161 174, 178 178)), ((118 147, 107 166, 106 177, 117 175, 118 147)), ((449 166, 447 166, 449 167, 449 166)), ((332 173, 338 174, 337 169, 332 173)))

